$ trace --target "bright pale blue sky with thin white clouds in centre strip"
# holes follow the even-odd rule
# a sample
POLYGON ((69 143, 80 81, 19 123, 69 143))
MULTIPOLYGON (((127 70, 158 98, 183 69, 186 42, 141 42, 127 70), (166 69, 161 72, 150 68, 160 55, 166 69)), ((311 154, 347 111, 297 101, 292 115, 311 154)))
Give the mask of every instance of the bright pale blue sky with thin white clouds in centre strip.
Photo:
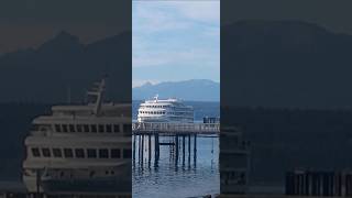
POLYGON ((132 87, 220 81, 220 0, 133 1, 132 87))

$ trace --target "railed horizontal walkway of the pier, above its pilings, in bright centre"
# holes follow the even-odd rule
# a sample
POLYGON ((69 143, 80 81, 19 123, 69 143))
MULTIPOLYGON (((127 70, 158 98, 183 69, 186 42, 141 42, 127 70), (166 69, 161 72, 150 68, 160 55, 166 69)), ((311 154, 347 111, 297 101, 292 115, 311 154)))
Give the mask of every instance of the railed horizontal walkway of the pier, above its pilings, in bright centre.
POLYGON ((160 123, 160 122, 134 122, 133 133, 199 133, 218 134, 219 123, 160 123))

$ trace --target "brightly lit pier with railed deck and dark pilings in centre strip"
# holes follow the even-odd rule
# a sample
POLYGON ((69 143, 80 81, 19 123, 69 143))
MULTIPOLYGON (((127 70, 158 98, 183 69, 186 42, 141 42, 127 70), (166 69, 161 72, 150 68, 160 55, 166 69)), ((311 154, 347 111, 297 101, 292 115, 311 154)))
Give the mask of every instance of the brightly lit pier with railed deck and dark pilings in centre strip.
MULTIPOLYGON (((177 167, 180 165, 197 164, 197 138, 218 138, 219 123, 156 123, 134 122, 133 132, 133 164, 145 161, 151 166, 158 166, 161 148, 168 150, 169 160, 177 167), (193 158, 193 161, 191 161, 193 158)), ((142 165, 143 166, 143 165, 142 165)))

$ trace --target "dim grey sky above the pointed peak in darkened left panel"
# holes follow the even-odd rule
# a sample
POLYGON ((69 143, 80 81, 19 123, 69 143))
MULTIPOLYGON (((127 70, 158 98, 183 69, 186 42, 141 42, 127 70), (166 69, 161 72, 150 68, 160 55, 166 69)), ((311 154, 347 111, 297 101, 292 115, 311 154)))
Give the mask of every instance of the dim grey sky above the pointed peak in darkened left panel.
POLYGON ((36 46, 61 31, 84 43, 131 30, 131 0, 1 0, 0 53, 36 46))

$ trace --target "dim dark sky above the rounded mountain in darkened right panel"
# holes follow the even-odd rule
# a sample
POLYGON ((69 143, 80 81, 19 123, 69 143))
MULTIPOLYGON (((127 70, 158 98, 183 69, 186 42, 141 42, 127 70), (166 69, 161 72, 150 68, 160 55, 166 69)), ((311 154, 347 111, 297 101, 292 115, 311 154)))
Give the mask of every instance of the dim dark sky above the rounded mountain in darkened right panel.
POLYGON ((239 20, 300 20, 352 34, 351 0, 221 0, 221 24, 239 20))

